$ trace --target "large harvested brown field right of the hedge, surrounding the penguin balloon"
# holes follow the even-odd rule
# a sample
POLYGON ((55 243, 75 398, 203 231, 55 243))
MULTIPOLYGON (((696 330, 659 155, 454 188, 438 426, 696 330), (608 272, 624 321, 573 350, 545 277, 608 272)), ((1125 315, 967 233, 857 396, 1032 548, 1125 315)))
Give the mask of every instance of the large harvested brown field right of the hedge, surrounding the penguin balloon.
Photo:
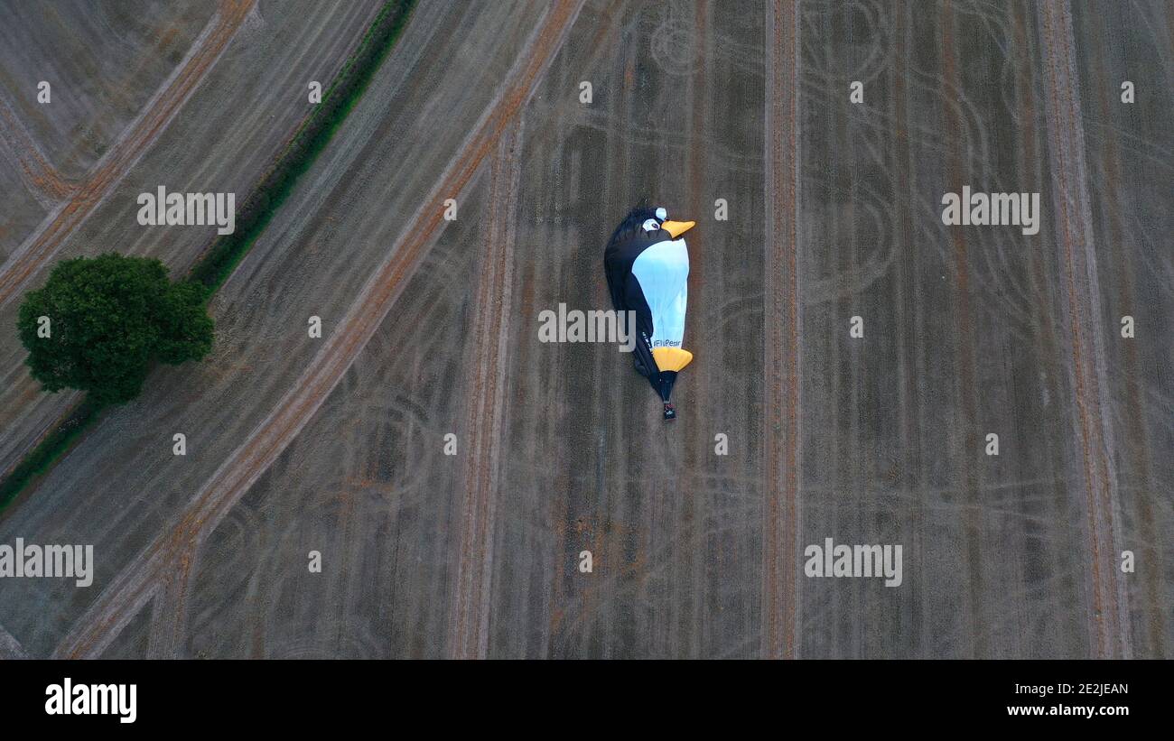
POLYGON ((99 553, 88 590, 0 582, 0 652, 1168 657, 1170 12, 423 4, 216 295, 214 356, 0 519, 99 553), (1038 233, 944 224, 964 186, 1039 193, 1038 233), (672 424, 615 346, 538 334, 608 307, 641 199, 699 222, 672 424), (805 576, 829 538, 899 545, 899 585, 805 576))

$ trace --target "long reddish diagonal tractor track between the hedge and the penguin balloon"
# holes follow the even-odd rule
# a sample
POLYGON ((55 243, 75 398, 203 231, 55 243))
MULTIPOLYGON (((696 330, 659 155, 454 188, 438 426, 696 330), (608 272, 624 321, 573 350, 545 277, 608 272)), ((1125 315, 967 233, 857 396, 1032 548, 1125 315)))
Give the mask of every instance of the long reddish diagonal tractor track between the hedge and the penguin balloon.
MULTIPOLYGON (((269 416, 201 488, 171 530, 147 546, 82 614, 58 646, 55 657, 83 658, 100 654, 163 582, 190 566, 185 565, 188 555, 198 550, 205 535, 215 529, 297 437, 351 367, 399 298, 407 280, 423 263, 445 224, 444 200, 458 197, 465 190, 483 162, 511 129, 514 118, 521 114, 566 40, 582 5, 583 0, 564 0, 547 8, 498 95, 450 161, 411 224, 400 232, 389 258, 356 297, 340 326, 330 334, 323 348, 269 416)), ((187 589, 185 580, 180 584, 182 590, 187 589)), ((185 599, 173 592, 170 601, 182 606, 185 599)), ((167 619, 182 621, 183 616, 170 616, 167 619)), ((162 633, 155 627, 151 631, 153 634, 162 633)), ((175 635, 181 631, 182 623, 166 632, 175 635)))

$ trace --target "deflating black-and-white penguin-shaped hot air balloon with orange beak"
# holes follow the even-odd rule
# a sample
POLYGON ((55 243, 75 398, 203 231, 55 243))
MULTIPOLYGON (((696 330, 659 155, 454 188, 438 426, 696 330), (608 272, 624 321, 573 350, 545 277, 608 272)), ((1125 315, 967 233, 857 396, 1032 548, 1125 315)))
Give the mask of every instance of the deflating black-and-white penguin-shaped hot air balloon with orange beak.
POLYGON ((616 312, 635 312, 636 370, 660 394, 666 420, 676 419, 669 402, 676 374, 693 360, 681 347, 689 278, 689 251, 681 234, 694 224, 669 222, 664 209, 634 209, 603 251, 612 305, 616 312))

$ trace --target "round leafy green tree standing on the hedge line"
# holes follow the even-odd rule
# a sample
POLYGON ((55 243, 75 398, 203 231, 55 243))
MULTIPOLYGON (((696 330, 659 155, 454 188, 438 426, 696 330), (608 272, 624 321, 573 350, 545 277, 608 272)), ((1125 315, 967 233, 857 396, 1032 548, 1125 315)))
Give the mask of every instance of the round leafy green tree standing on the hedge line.
POLYGON ((211 349, 205 298, 200 284, 168 280, 155 259, 65 260, 20 306, 25 362, 46 390, 77 388, 103 405, 130 401, 153 361, 178 365, 211 349))

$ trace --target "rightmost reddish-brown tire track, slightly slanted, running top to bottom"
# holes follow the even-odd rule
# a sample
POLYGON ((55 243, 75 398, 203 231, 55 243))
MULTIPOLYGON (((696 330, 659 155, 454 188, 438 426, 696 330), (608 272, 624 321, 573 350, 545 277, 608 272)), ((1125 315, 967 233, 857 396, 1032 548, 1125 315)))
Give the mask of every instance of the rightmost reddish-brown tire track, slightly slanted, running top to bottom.
POLYGON ((1058 250, 1064 270, 1071 333, 1074 413, 1079 423, 1079 467, 1087 507, 1088 576, 1093 604, 1089 640, 1098 658, 1133 655, 1129 626, 1122 619, 1125 584, 1116 570, 1120 526, 1113 430, 1101 414, 1107 388, 1105 339, 1097 281, 1097 256, 1084 158, 1084 128, 1077 100, 1072 19, 1067 2, 1046 0, 1037 8, 1046 67, 1045 113, 1055 205, 1058 250), (1091 328, 1089 328, 1091 327, 1091 328))

